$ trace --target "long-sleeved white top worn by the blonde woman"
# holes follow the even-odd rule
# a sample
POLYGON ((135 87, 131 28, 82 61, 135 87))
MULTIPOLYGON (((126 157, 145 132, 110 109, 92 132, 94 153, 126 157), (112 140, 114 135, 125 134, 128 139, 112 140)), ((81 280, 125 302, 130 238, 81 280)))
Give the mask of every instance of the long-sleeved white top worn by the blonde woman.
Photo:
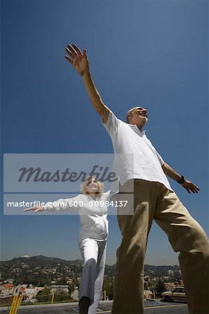
POLYGON ((80 218, 79 241, 86 238, 104 241, 108 237, 106 205, 109 195, 110 191, 103 193, 101 197, 97 196, 94 200, 91 196, 79 194, 72 198, 47 202, 44 209, 56 212, 77 209, 80 218))

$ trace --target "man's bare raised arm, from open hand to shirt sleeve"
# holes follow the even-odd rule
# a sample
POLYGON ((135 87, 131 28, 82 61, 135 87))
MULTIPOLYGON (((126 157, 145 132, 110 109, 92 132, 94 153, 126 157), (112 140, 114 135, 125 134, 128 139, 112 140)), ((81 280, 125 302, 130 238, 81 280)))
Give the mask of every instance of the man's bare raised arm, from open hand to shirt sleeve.
POLYGON ((91 103, 95 111, 100 114, 102 121, 105 124, 109 115, 109 108, 102 102, 102 98, 96 89, 95 84, 93 83, 93 79, 89 70, 88 59, 86 56, 86 50, 84 49, 84 51, 81 52, 77 45, 68 44, 68 46, 65 48, 65 52, 68 54, 65 55, 65 59, 67 59, 72 64, 72 66, 74 66, 75 70, 77 70, 77 73, 82 76, 91 103))

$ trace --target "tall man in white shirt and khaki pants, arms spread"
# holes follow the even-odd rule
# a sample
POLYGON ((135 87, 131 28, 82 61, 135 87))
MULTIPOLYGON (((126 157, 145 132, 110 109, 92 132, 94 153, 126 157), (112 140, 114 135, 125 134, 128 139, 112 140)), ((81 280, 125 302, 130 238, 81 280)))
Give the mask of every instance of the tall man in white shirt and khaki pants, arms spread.
MULTIPOLYGON (((144 313, 144 255, 153 219, 167 233, 171 246, 179 254, 189 313, 209 313, 209 245, 206 233, 171 189, 167 176, 189 193, 199 188, 164 163, 142 128, 148 120, 144 107, 127 112, 127 124, 117 119, 102 103, 89 70, 86 50, 68 45, 65 59, 82 76, 95 110, 102 117, 114 146, 114 152, 124 154, 123 180, 120 192, 134 186, 134 213, 118 215, 123 239, 117 251, 115 294, 112 313, 144 313), (134 169, 132 158, 134 154, 134 169), (125 179, 124 179, 125 178, 125 179)), ((120 177, 120 176, 119 176, 120 177)))

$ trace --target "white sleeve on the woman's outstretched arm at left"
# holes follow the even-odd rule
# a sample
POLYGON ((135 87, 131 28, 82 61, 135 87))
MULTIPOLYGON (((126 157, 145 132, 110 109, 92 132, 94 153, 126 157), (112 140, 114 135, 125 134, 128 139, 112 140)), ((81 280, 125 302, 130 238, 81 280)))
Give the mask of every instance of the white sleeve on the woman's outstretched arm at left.
POLYGON ((81 195, 77 195, 71 198, 60 198, 59 200, 45 203, 45 211, 65 211, 72 209, 79 209, 79 201, 81 200, 81 195))

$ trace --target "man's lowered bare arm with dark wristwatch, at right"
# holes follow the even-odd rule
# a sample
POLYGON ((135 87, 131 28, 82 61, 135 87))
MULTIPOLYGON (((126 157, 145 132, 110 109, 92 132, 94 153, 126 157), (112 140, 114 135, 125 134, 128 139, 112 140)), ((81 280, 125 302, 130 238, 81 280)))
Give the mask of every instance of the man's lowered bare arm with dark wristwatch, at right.
MULTIPOLYGON (((169 166, 167 163, 163 163, 162 170, 164 171, 164 174, 166 174, 171 179, 175 180, 176 182, 180 181, 182 176, 178 174, 171 166, 169 166)), ((193 184, 191 181, 188 181, 187 179, 182 180, 183 183, 181 183, 181 186, 187 190, 189 194, 192 193, 198 193, 199 187, 193 184)), ((178 182, 179 183, 179 182, 178 182)))

